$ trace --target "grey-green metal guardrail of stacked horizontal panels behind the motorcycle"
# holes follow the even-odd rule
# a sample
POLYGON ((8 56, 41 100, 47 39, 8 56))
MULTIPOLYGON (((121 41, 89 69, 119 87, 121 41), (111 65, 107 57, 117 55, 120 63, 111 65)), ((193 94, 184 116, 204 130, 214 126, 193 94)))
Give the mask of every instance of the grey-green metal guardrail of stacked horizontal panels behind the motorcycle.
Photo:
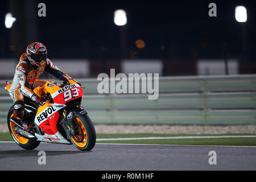
MULTIPOLYGON (((82 105, 96 124, 256 124, 256 75, 159 77, 157 100, 147 94, 98 94, 100 81, 79 81, 85 86, 82 105)), ((0 97, 0 122, 12 104, 0 97)))

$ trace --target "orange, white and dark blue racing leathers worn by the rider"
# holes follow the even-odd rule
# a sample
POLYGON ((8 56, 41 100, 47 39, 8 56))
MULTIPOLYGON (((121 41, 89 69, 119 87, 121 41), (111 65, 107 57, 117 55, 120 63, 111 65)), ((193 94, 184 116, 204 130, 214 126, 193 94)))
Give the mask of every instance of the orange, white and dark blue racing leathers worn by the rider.
POLYGON ((61 72, 49 59, 36 69, 30 67, 27 55, 26 53, 23 53, 20 56, 18 65, 16 65, 13 82, 7 82, 5 85, 6 91, 14 101, 14 115, 20 120, 23 120, 24 117, 26 117, 24 115, 24 96, 31 98, 32 101, 43 101, 43 98, 37 96, 33 89, 45 83, 45 81, 38 80, 38 77, 42 75, 44 71, 50 73, 59 80, 67 82, 73 80, 70 76, 61 72))

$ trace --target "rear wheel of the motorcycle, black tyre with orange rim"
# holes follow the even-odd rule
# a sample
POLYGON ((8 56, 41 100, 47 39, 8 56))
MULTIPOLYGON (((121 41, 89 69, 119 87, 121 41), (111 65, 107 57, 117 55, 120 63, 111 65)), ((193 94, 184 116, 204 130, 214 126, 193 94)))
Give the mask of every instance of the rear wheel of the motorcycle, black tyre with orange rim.
POLYGON ((16 126, 13 122, 10 121, 10 118, 14 117, 13 108, 9 110, 8 117, 7 117, 7 125, 9 127, 9 131, 11 137, 13 137, 14 141, 22 148, 26 150, 33 150, 34 148, 38 147, 40 142, 36 139, 27 139, 22 137, 20 134, 16 133, 14 127, 16 126))

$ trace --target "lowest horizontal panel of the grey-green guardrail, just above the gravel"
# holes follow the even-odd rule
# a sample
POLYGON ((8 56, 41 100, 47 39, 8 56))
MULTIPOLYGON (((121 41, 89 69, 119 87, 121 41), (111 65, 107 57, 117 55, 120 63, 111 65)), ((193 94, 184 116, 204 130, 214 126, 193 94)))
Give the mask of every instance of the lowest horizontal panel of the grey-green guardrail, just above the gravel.
POLYGON ((88 111, 95 124, 255 125, 256 111, 88 111))

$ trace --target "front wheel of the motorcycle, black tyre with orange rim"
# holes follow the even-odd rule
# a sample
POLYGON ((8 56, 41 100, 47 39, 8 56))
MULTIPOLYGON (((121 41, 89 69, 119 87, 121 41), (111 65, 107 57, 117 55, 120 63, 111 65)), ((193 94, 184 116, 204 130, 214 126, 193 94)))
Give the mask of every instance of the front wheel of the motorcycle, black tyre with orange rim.
POLYGON ((75 134, 69 137, 76 148, 82 151, 92 150, 96 143, 96 132, 87 114, 73 118, 75 134))

